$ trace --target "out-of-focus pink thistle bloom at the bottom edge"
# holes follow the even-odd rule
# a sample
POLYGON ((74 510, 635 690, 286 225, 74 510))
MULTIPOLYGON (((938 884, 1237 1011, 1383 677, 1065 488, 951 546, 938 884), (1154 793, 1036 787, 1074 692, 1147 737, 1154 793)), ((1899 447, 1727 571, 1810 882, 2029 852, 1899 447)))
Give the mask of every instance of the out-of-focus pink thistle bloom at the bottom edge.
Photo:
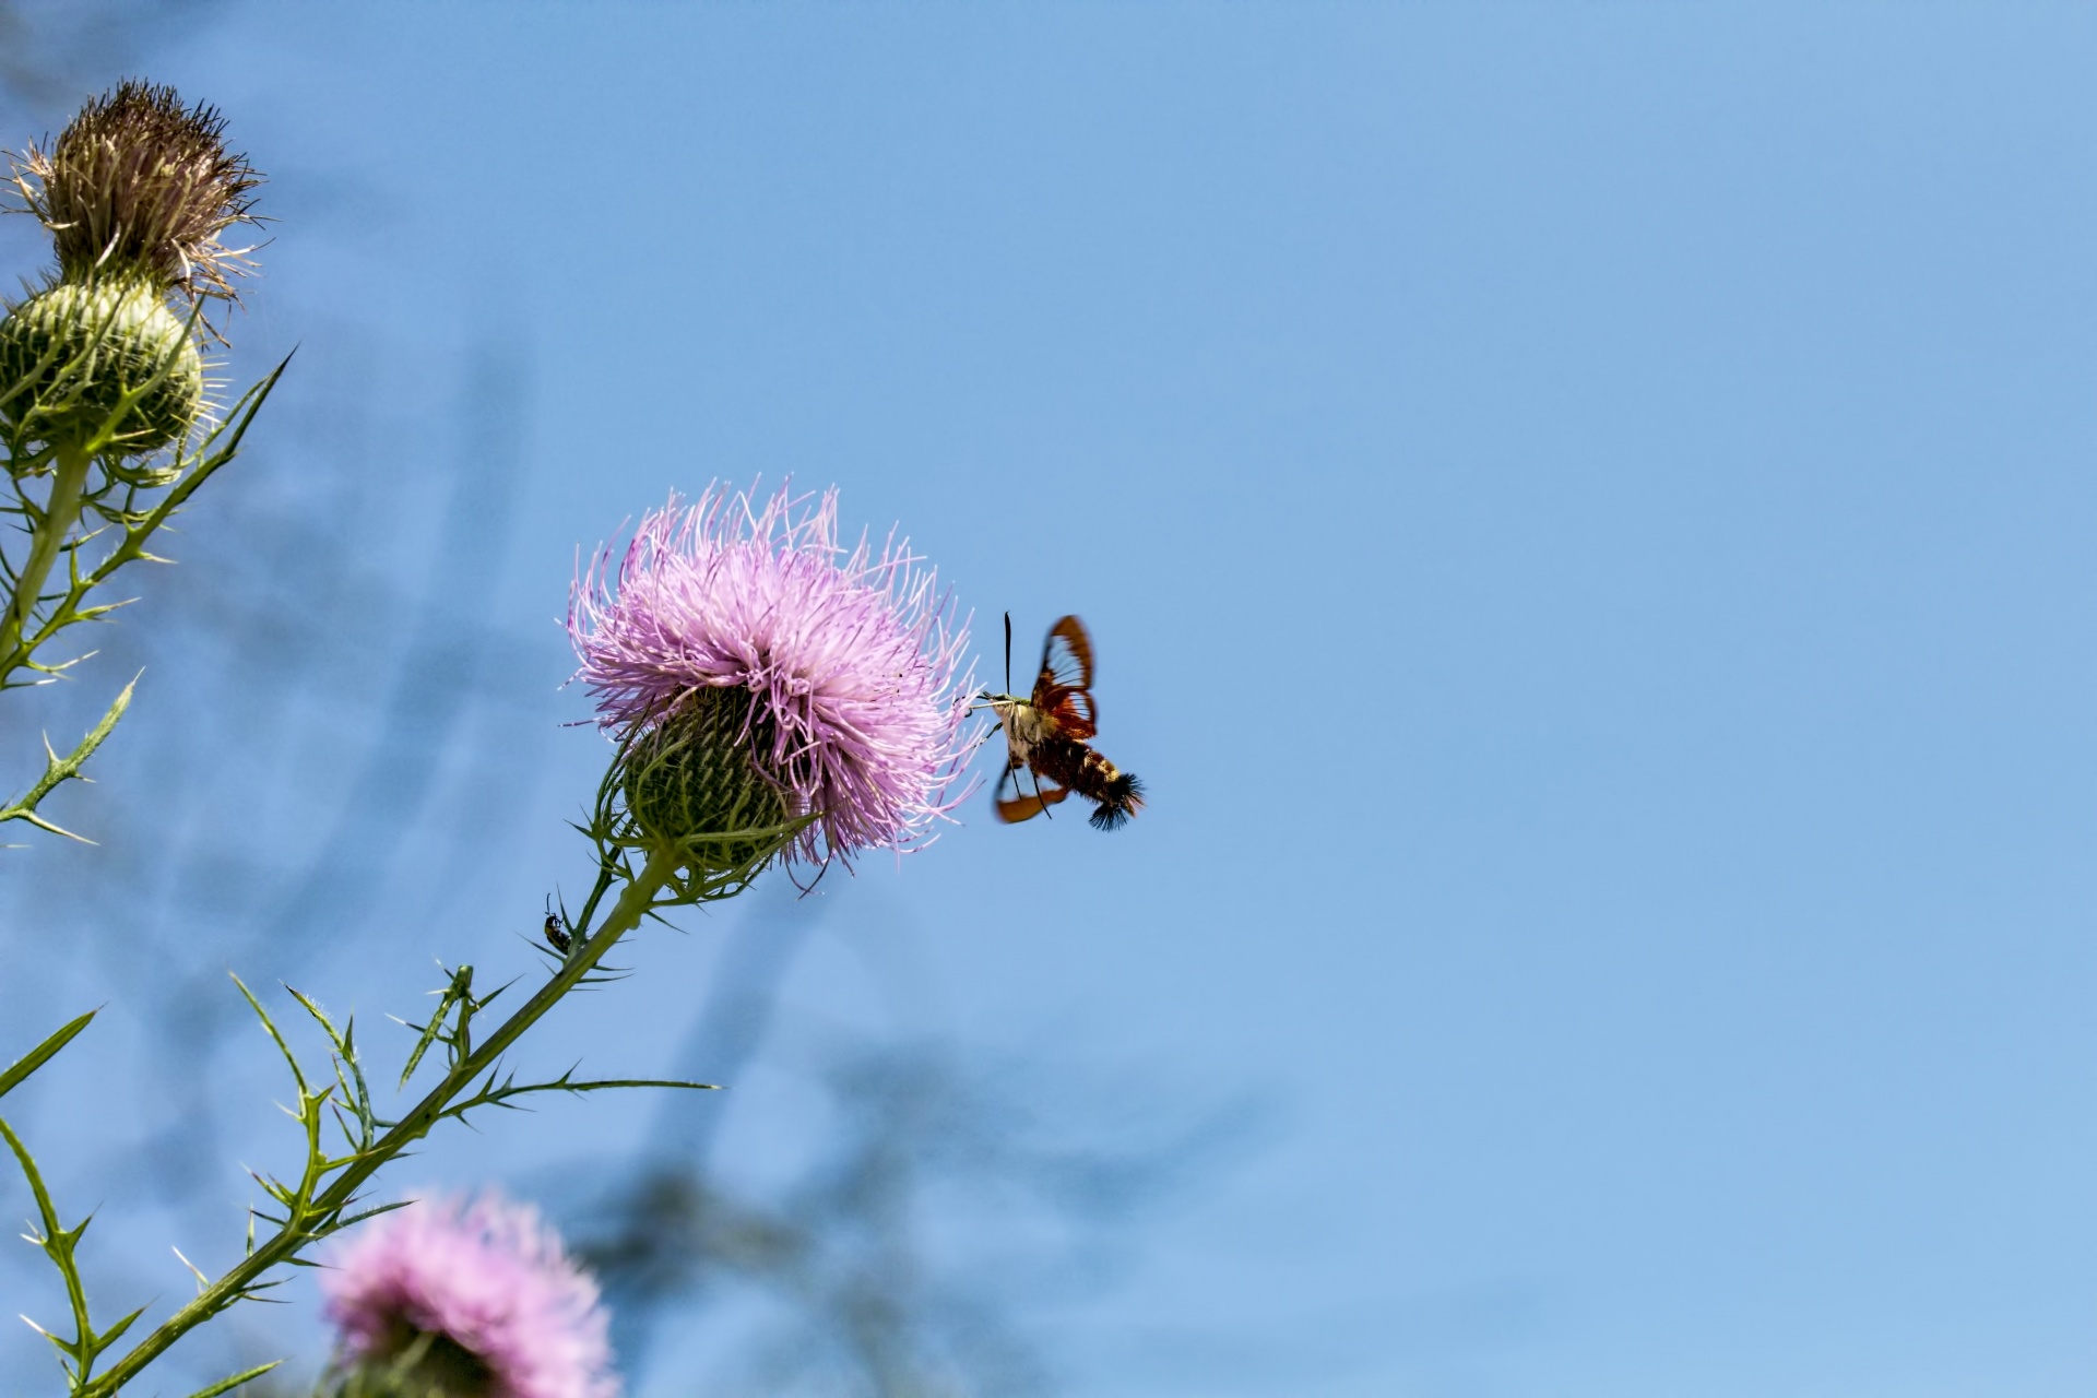
POLYGON ((619 1394, 598 1283, 531 1205, 482 1195, 382 1214, 331 1260, 321 1293, 350 1358, 384 1362, 432 1335, 466 1352, 432 1354, 457 1392, 619 1394))

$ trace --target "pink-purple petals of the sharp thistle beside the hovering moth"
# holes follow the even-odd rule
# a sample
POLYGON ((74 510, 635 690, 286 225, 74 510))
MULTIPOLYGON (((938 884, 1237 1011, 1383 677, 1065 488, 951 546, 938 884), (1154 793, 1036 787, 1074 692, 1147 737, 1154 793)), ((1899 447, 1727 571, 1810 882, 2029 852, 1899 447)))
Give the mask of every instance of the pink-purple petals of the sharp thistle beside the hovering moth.
POLYGON ((656 725, 702 690, 742 687, 753 752, 793 815, 816 815, 793 855, 916 849, 973 748, 975 692, 935 574, 893 534, 877 555, 837 543, 837 490, 807 509, 709 486, 642 518, 612 570, 606 547, 577 578, 568 637, 598 723, 656 725))

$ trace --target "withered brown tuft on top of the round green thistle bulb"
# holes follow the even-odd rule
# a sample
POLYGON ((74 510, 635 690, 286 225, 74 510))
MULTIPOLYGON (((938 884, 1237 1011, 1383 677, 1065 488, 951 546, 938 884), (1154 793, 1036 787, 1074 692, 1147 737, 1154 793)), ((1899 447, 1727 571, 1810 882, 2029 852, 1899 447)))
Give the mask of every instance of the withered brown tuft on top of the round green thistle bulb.
POLYGON ((48 151, 10 157, 8 184, 50 228, 61 281, 105 275, 157 291, 233 300, 247 247, 220 235, 256 222, 262 178, 224 147, 224 117, 174 88, 124 82, 80 109, 48 151))

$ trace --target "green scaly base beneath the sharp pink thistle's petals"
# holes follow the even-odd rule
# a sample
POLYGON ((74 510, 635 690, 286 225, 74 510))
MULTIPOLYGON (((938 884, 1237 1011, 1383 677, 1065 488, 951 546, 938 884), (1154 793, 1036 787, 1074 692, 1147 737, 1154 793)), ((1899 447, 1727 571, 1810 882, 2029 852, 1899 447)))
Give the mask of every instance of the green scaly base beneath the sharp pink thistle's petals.
POLYGON ((742 687, 705 687, 637 731, 621 755, 627 811, 652 845, 682 847, 711 872, 763 866, 799 826, 757 765, 772 734, 742 687))

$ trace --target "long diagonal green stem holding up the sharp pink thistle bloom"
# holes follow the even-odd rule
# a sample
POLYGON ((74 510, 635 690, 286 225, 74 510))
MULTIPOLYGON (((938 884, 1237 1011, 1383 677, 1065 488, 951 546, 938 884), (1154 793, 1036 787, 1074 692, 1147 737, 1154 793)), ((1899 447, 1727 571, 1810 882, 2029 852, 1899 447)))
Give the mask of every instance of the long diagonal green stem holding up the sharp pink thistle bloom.
POLYGON ((654 895, 661 893, 663 884, 667 884, 677 872, 677 855, 650 853, 648 864, 633 878, 633 882, 627 884, 625 893, 619 895, 619 901, 604 916, 604 924, 591 933, 589 941, 579 945, 566 962, 562 962, 560 970, 554 973, 554 979, 539 987, 539 993, 520 1004, 516 1014, 505 1019, 503 1025, 468 1058, 461 1058, 457 1067, 453 1067, 445 1079, 415 1105, 413 1111, 401 1117, 390 1132, 380 1136, 369 1151, 344 1165, 342 1174, 336 1176, 325 1191, 312 1197, 304 1209, 289 1214, 277 1230, 277 1237, 241 1258, 233 1270, 199 1291, 193 1302, 182 1306, 182 1310, 168 1316, 159 1329, 140 1339, 107 1373, 84 1388, 82 1398, 105 1398, 107 1394, 115 1394, 120 1388, 138 1377, 147 1364, 159 1358, 168 1346, 241 1299, 264 1272, 279 1262, 296 1258, 298 1251, 317 1237, 317 1224, 327 1224, 348 1209, 365 1180, 377 1174, 386 1161, 401 1155, 401 1151, 421 1140, 453 1098, 468 1090, 480 1073, 495 1067, 495 1061, 505 1048, 516 1044, 516 1040, 531 1029, 539 1017, 552 1010, 562 996, 575 989, 581 979, 589 975, 600 960, 604 960, 621 937, 640 926, 642 918, 648 916, 648 910, 654 905, 654 895))

